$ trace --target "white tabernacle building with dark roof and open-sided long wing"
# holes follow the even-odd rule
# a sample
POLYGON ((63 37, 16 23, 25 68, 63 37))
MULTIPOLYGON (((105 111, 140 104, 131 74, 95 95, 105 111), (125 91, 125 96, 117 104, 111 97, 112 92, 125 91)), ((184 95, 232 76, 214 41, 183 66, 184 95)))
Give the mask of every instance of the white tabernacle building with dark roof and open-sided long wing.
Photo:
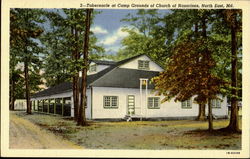
MULTIPOLYGON (((93 120, 120 120, 125 117, 143 119, 186 119, 198 116, 199 105, 193 98, 184 102, 161 103, 150 83, 163 68, 149 56, 137 55, 119 62, 92 60, 87 76, 86 117, 93 120)), ((213 115, 226 118, 227 99, 213 100, 213 115)), ((65 82, 32 96, 38 112, 74 116, 72 83, 65 82)), ((206 114, 207 114, 206 107, 206 114)))

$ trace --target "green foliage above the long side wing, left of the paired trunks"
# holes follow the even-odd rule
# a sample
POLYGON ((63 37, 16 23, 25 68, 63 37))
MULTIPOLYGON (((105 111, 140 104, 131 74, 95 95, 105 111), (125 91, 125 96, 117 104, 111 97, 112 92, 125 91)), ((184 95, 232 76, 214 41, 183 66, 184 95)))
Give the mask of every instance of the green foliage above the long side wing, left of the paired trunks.
POLYGON ((70 81, 71 74, 68 69, 70 61, 71 44, 69 45, 69 26, 60 10, 44 10, 47 19, 47 28, 40 37, 44 53, 43 77, 47 87, 70 81))

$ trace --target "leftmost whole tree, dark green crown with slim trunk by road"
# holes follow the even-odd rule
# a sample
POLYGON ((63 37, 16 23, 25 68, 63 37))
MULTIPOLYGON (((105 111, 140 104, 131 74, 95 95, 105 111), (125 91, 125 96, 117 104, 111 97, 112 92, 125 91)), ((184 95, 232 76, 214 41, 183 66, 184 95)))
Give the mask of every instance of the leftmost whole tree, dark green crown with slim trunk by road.
POLYGON ((42 19, 40 19, 40 11, 37 9, 11 9, 10 14, 10 46, 12 47, 10 50, 13 51, 11 55, 17 56, 18 62, 24 65, 27 114, 31 114, 30 70, 35 70, 39 63, 39 57, 35 54, 39 54, 41 50, 34 38, 43 32, 37 25, 42 22, 42 19))

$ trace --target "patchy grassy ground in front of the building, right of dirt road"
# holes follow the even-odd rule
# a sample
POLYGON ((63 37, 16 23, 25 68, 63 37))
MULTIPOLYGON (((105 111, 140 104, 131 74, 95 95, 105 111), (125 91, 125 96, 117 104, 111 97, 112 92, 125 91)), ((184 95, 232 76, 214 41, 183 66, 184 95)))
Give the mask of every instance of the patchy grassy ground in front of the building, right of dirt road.
MULTIPOLYGON (((90 121, 90 126, 80 127, 59 116, 15 113, 87 149, 241 149, 241 134, 209 133, 207 122, 201 121, 90 121)), ((215 120, 214 129, 228 122, 215 120)))

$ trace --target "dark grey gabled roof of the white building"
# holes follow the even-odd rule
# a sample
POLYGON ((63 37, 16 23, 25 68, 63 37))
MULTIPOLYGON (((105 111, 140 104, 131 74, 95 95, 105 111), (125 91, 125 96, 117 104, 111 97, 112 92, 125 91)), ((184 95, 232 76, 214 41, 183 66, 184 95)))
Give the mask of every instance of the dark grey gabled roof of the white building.
MULTIPOLYGON (((145 54, 133 56, 131 58, 121 60, 119 62, 109 63, 110 67, 108 67, 108 68, 106 68, 106 69, 104 69, 96 74, 87 76, 87 86, 139 88, 140 87, 140 83, 139 83, 140 78, 148 78, 150 80, 152 77, 157 76, 159 72, 136 70, 136 69, 125 69, 125 68, 119 68, 118 66, 125 64, 129 61, 132 61, 133 59, 136 59, 136 58, 143 56, 143 55, 145 55, 145 54), (114 78, 114 77, 119 77, 119 78, 114 78)), ((98 61, 98 60, 94 60, 94 61, 98 61)), ((100 62, 100 60, 99 60, 99 62, 100 62)), ((100 63, 103 63, 103 61, 101 61, 100 63)), ((80 82, 81 82, 81 78, 80 78, 80 82)), ((149 84, 148 88, 152 89, 152 88, 154 88, 154 85, 149 84)), ((69 92, 69 91, 72 91, 72 83, 71 82, 64 82, 64 83, 61 83, 61 84, 56 85, 54 87, 50 87, 46 90, 38 92, 38 93, 34 94, 32 96, 32 98, 50 96, 53 94, 60 94, 60 93, 69 92)))

